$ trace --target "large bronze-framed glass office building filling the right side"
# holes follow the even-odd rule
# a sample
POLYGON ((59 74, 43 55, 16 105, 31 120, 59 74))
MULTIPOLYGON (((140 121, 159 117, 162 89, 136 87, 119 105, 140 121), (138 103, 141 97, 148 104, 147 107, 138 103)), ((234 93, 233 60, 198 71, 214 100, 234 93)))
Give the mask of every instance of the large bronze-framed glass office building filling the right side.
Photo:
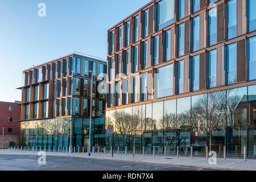
POLYGON ((108 30, 115 151, 256 157, 255 6, 156 0, 108 30))

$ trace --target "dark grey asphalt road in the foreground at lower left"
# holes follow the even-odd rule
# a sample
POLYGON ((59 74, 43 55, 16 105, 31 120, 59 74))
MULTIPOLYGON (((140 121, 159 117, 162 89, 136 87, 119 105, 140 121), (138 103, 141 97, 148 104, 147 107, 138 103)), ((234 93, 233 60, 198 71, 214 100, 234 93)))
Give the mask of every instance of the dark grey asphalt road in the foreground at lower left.
POLYGON ((201 171, 201 168, 122 162, 105 159, 46 156, 46 165, 36 155, 0 155, 0 171, 201 171))

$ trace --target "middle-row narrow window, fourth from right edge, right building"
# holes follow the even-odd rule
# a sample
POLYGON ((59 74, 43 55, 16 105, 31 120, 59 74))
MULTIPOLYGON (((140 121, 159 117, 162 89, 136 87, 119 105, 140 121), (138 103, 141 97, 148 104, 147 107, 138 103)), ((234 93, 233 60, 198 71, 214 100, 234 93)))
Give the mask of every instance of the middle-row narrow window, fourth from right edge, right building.
POLYGON ((192 19, 191 51, 195 52, 200 47, 200 16, 192 19))

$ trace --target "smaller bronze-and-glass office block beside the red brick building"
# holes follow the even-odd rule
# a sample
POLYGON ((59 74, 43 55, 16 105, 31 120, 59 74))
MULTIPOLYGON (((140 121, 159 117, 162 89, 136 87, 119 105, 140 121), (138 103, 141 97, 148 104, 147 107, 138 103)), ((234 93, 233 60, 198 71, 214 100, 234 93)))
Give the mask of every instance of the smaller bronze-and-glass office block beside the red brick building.
POLYGON ((23 71, 20 146, 32 148, 33 135, 46 150, 88 146, 91 92, 91 145, 102 146, 106 63, 73 53, 23 71))

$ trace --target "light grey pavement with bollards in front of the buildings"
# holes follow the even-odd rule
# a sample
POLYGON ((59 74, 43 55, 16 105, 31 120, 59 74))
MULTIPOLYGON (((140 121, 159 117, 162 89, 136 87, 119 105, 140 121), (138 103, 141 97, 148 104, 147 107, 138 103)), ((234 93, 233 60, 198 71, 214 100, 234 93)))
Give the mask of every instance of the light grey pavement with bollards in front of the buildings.
MULTIPOLYGON (((0 150, 0 159, 1 155, 38 155, 38 152, 33 154, 32 151, 17 151, 17 150, 0 150)), ((181 157, 177 158, 176 156, 151 156, 151 155, 124 155, 124 154, 114 154, 112 157, 111 154, 88 154, 85 153, 62 153, 62 152, 46 152, 46 156, 61 156, 61 157, 72 157, 72 158, 86 158, 86 159, 104 159, 104 160, 115 160, 116 162, 135 162, 135 163, 144 163, 144 164, 158 164, 165 166, 174 166, 174 167, 189 167, 189 168, 203 168, 203 169, 217 169, 217 170, 229 170, 229 171, 256 171, 256 159, 246 159, 246 162, 243 159, 230 159, 227 158, 216 158, 216 163, 209 163, 209 159, 193 157, 181 157)))

